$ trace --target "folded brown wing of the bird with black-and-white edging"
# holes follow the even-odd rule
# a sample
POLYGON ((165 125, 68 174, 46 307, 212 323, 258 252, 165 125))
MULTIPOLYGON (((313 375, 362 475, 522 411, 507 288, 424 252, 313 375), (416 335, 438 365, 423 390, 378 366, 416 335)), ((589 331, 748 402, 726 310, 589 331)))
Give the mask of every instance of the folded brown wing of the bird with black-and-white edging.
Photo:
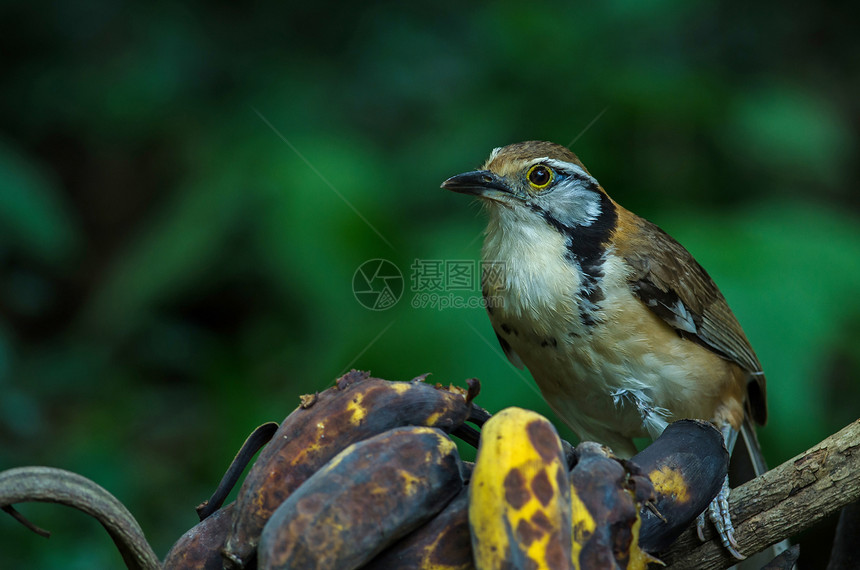
POLYGON ((750 413, 764 424, 764 373, 725 297, 684 246, 647 220, 636 217, 635 224, 637 235, 648 236, 649 243, 619 252, 633 268, 629 280, 634 295, 681 336, 749 372, 750 413))

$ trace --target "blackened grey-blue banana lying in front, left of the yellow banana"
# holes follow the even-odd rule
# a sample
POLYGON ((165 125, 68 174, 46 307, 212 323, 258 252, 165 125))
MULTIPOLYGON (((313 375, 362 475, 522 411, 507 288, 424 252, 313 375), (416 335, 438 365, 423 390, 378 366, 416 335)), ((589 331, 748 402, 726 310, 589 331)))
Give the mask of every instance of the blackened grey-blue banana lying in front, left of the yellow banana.
POLYGON ((401 427, 351 445, 272 514, 261 570, 360 568, 429 520, 463 488, 442 431, 401 427))

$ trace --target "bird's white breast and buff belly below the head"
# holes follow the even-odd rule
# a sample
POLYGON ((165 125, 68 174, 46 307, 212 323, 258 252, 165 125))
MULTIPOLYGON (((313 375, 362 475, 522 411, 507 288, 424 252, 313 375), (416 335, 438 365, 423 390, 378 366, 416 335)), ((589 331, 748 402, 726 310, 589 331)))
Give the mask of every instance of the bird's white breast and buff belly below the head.
POLYGON ((731 377, 726 362, 635 298, 627 266, 611 250, 595 279, 553 241, 485 248, 484 261, 495 257, 503 271, 485 278, 484 292, 496 333, 561 418, 581 437, 622 451, 629 438, 654 437, 672 419, 713 417, 731 377))

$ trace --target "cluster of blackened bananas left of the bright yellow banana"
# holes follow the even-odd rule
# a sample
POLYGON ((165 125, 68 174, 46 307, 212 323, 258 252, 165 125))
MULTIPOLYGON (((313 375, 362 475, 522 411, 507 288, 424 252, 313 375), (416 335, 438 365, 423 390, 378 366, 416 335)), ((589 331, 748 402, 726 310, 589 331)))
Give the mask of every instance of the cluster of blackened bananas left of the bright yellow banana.
POLYGON ((444 557, 455 548, 470 561, 468 525, 457 520, 466 509, 455 508, 470 468, 448 434, 469 418, 480 387, 423 380, 352 371, 303 397, 260 452, 236 501, 180 538, 165 568, 348 570, 419 550, 428 560, 444 557))

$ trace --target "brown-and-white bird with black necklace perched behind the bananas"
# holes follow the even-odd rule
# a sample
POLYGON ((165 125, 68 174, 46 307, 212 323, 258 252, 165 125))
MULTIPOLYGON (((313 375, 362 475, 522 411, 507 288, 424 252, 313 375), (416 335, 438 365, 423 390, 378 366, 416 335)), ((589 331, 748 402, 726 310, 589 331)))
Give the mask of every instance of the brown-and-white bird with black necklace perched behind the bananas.
MULTIPOLYGON (((496 148, 442 188, 475 196, 489 217, 482 293, 512 364, 581 440, 619 457, 671 422, 712 422, 752 474, 767 470, 754 424, 767 421, 761 363, 708 275, 678 241, 615 202, 567 147, 496 148), (740 435, 740 438, 739 438, 740 435)), ((728 480, 707 510, 744 556, 728 480)), ((699 518, 699 535, 705 524, 699 518)))

